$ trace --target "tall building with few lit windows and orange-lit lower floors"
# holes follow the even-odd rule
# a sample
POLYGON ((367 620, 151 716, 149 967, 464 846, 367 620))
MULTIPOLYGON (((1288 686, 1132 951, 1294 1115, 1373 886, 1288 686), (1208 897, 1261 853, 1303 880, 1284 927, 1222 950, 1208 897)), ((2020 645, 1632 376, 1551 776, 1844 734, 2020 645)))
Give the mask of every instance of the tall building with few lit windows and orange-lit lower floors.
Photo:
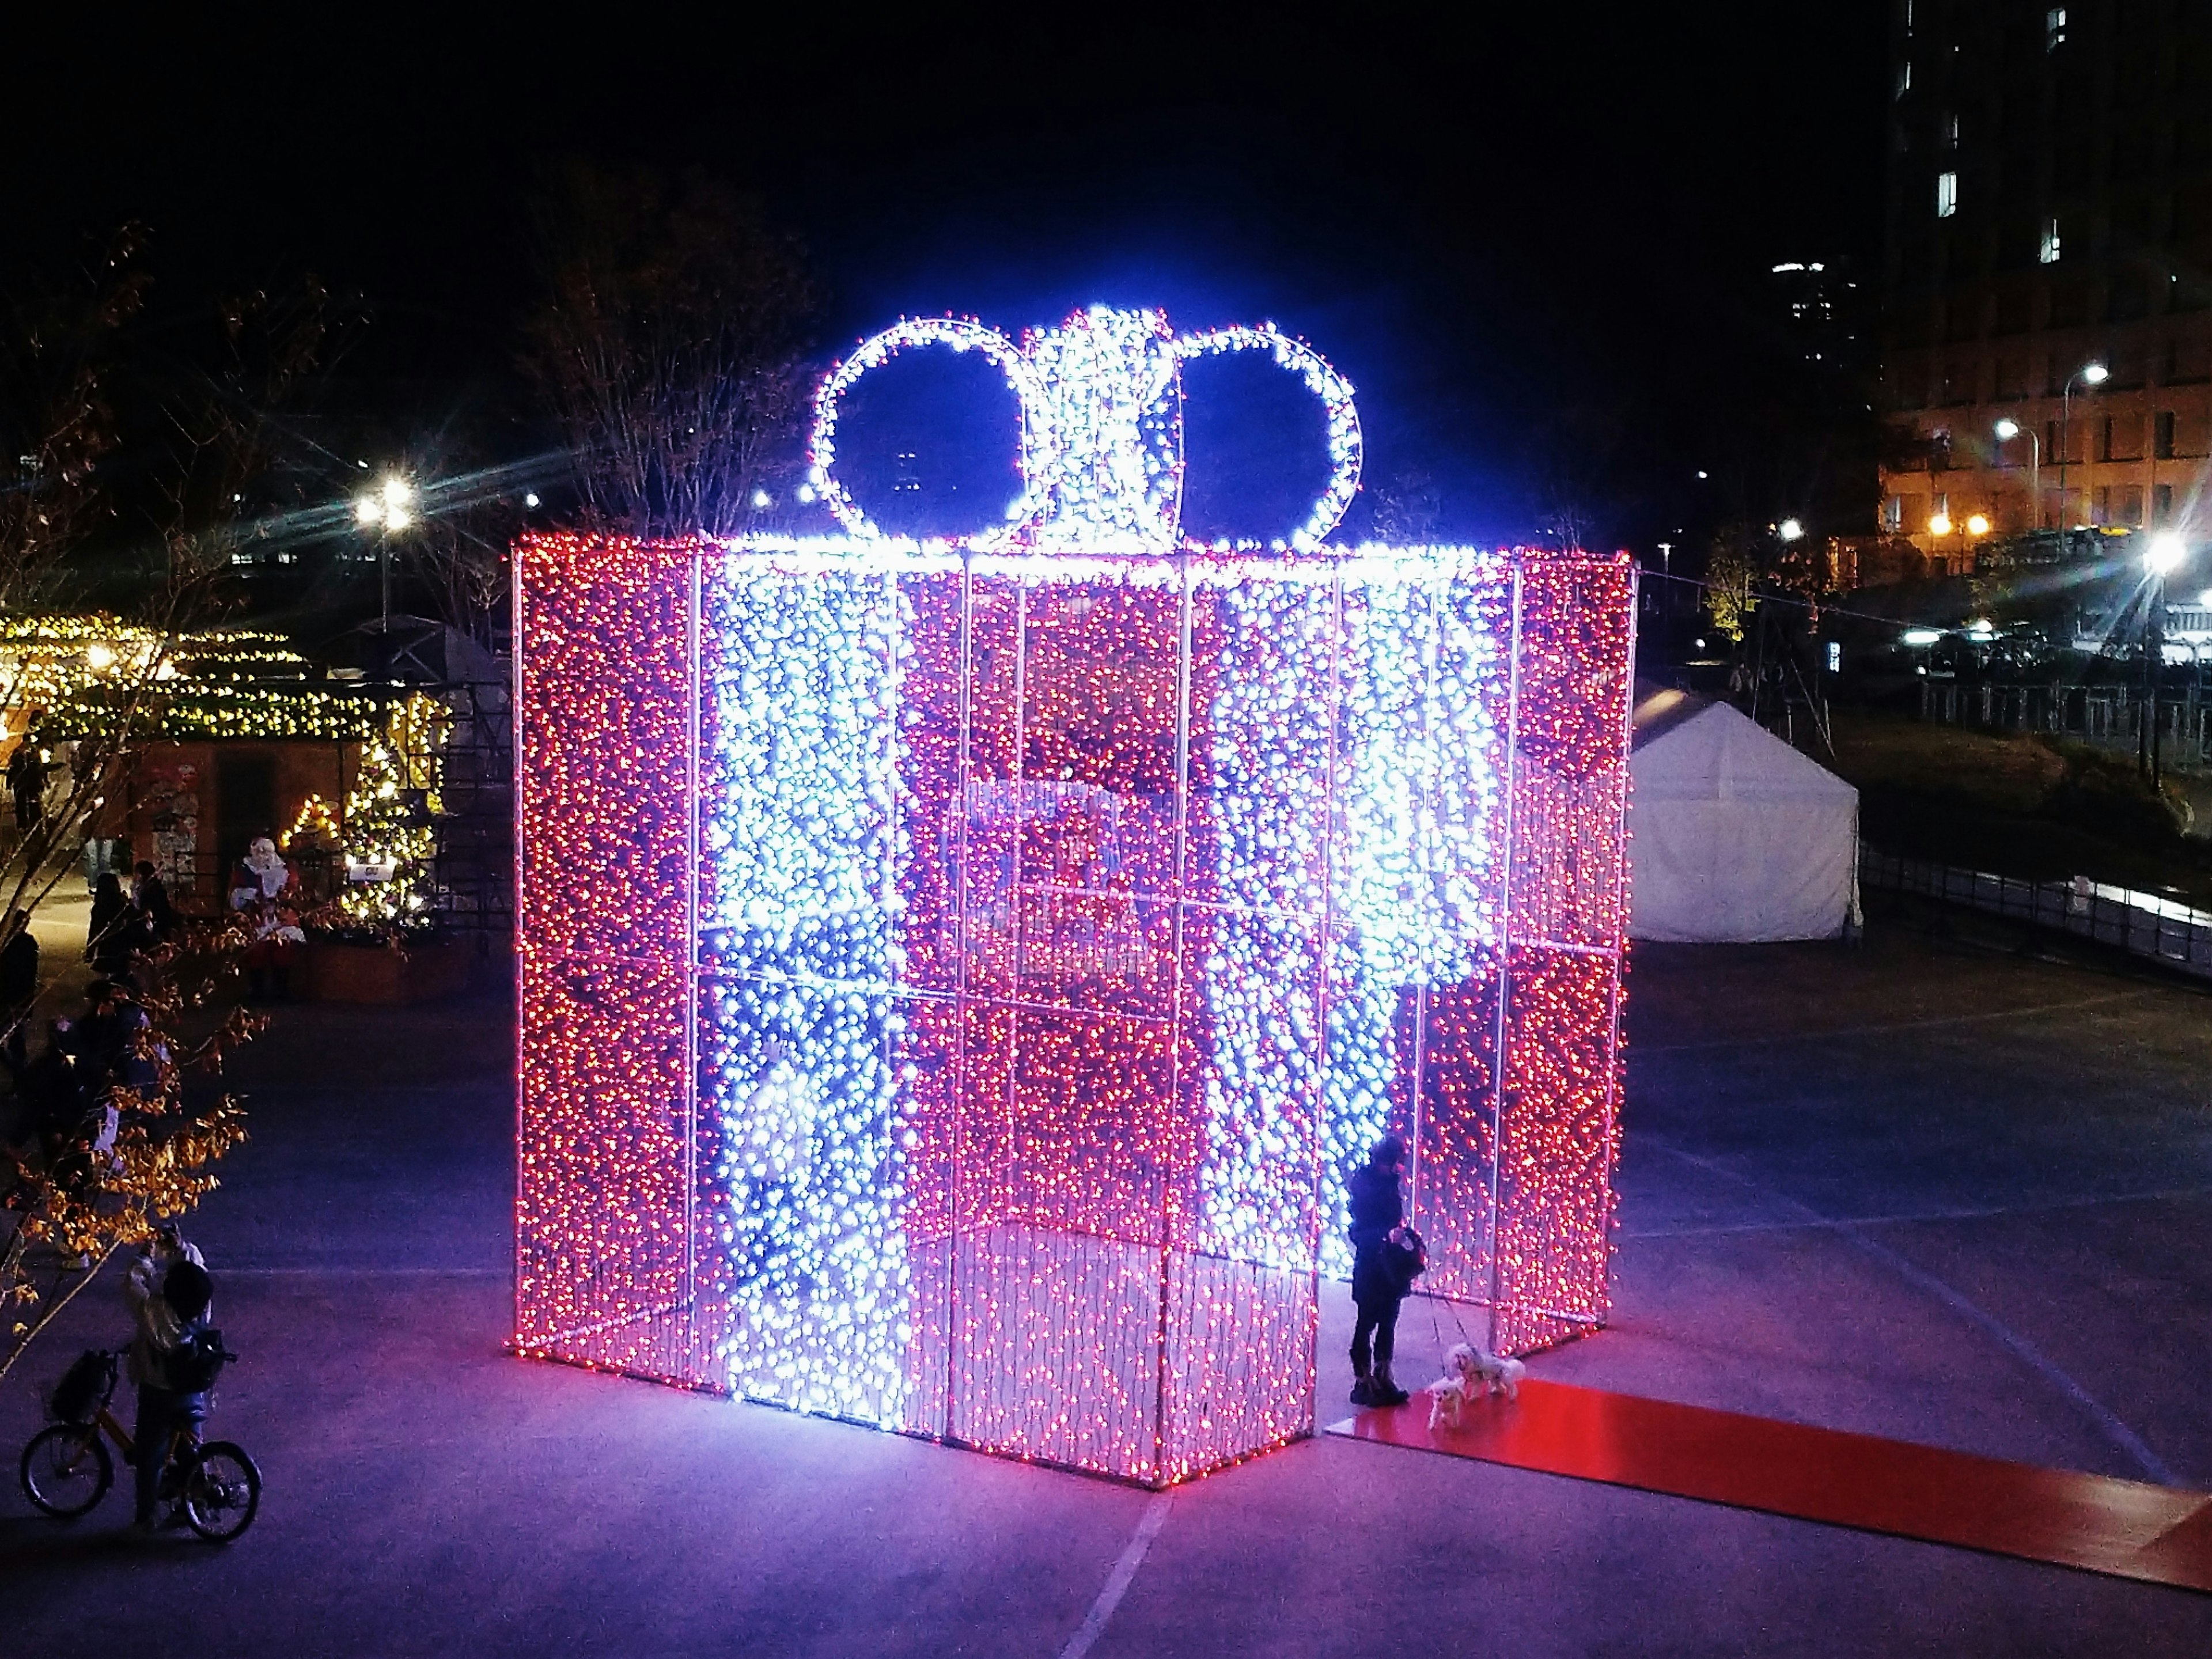
POLYGON ((2212 540, 2212 0, 1891 2, 1878 529, 2212 540))

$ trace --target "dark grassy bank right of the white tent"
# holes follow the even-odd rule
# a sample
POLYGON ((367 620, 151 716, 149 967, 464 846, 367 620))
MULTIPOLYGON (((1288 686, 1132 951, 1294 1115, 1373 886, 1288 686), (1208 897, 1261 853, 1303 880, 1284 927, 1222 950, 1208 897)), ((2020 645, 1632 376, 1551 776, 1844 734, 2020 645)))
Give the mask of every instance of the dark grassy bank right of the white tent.
POLYGON ((2090 876, 2212 902, 2212 847, 2181 836, 2179 794, 2079 743, 1836 714, 1836 772, 1885 852, 2031 880, 2090 876))

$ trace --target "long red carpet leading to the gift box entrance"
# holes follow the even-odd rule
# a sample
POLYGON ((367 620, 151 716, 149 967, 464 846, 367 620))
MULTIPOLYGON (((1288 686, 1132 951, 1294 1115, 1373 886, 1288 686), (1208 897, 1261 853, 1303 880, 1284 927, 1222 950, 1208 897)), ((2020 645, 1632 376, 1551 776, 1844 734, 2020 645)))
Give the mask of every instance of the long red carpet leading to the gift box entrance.
POLYGON ((2212 1593, 2212 1495, 1564 1383, 1429 1431, 1429 1396, 1327 1433, 2212 1593))

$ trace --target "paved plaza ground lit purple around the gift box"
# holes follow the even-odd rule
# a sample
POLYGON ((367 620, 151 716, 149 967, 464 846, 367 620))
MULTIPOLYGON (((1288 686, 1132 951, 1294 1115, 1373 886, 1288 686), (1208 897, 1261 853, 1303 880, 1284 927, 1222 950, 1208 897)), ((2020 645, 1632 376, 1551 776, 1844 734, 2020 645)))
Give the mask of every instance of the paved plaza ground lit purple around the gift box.
MULTIPOLYGON (((1617 1318, 1533 1371, 2212 1486, 2212 998, 2015 945, 1639 949, 1617 1318)), ((1159 1500, 502 1358, 509 1042, 489 995, 281 1011, 195 1225, 261 1520, 142 1544, 9 1480, 7 1652, 2212 1652, 2212 1597, 1489 1464, 1316 1440, 1159 1500)), ((0 1385, 9 1462, 119 1332, 95 1283, 0 1385)))

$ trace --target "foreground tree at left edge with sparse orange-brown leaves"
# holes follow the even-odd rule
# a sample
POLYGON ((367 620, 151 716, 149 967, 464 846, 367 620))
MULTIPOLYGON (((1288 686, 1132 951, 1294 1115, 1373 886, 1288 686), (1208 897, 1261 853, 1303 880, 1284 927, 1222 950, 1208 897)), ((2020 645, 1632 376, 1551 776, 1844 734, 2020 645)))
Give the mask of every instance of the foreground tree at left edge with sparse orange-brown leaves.
MULTIPOLYGON (((175 345, 188 330, 166 330, 159 347, 133 332, 150 288, 142 248, 144 232, 126 228, 62 281, 11 272, 0 305, 0 436, 20 458, 18 487, 0 489, 0 617, 82 599, 100 551, 131 593, 126 626, 80 617, 82 644, 49 637, 4 659, 0 703, 24 712, 7 748, 73 745, 60 803, 29 792, 42 810, 0 847, 9 927, 62 878, 137 748, 161 734, 170 681, 188 686, 179 641, 223 608, 234 555, 279 520, 270 504, 296 495, 292 431, 325 367, 330 303, 312 279, 219 305, 197 356, 175 345)), ((135 960, 144 1024, 122 1026, 119 1048, 97 1060, 53 1057, 31 1102, 46 1130, 0 1166, 0 1376, 91 1281, 64 1292, 73 1274, 215 1190, 215 1164, 246 1137, 232 1097, 190 1106, 184 1082, 263 1024, 212 1011, 248 942, 237 920, 184 925, 135 960)))

